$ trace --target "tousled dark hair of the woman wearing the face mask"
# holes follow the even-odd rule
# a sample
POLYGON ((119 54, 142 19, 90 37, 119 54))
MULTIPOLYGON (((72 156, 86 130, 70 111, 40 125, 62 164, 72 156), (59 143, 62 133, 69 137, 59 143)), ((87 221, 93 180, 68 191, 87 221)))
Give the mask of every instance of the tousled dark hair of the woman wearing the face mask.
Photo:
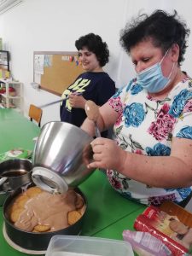
POLYGON ((186 38, 189 37, 189 33, 189 28, 183 20, 180 20, 176 10, 173 15, 170 15, 157 9, 152 15, 139 15, 127 23, 125 29, 120 32, 120 44, 128 54, 131 47, 148 38, 152 38, 154 46, 160 47, 164 54, 172 44, 178 44, 180 49, 178 65, 180 66, 184 61, 183 55, 188 46, 186 38))

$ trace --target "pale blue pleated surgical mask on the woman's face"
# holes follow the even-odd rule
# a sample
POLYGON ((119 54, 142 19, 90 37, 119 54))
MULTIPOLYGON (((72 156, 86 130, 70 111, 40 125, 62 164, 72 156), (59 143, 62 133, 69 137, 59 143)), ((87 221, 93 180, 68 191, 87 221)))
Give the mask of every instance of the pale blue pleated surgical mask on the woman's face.
MULTIPOLYGON (((168 50, 166 51, 166 54, 168 50)), ((172 65, 172 71, 169 74, 168 78, 163 75, 160 65, 166 54, 163 56, 160 62, 157 62, 153 66, 148 67, 142 72, 137 73, 137 83, 140 84, 144 89, 148 90, 148 92, 160 92, 161 90, 164 90, 166 86, 171 82, 170 77, 172 75, 175 62, 172 65)))

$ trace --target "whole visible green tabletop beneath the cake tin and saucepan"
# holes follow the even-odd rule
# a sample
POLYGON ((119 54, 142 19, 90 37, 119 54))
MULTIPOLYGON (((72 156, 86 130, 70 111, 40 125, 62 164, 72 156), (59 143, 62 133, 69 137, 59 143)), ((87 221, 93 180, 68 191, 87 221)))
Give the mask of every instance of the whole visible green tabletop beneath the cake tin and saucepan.
MULTIPOLYGON (((38 136, 39 128, 13 110, 0 109, 0 132, 3 134, 3 137, 0 136, 0 153, 15 147, 32 150, 32 138, 38 136)), ((123 230, 133 230, 134 219, 145 209, 141 204, 129 201, 114 191, 106 174, 98 170, 79 189, 88 201, 81 236, 122 240, 123 230)), ((3 237, 3 207, 0 207, 0 230, 1 256, 26 255, 10 247, 3 237)))

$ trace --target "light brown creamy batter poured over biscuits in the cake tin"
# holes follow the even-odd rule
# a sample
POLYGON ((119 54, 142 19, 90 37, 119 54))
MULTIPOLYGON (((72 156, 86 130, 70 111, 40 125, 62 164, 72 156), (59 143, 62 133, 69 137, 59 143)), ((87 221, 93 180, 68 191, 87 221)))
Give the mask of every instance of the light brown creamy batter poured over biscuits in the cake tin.
POLYGON ((76 209, 77 195, 73 190, 63 195, 52 195, 46 191, 26 201, 25 209, 15 222, 20 230, 32 231, 40 225, 50 226, 49 231, 61 230, 69 226, 67 213, 76 209))

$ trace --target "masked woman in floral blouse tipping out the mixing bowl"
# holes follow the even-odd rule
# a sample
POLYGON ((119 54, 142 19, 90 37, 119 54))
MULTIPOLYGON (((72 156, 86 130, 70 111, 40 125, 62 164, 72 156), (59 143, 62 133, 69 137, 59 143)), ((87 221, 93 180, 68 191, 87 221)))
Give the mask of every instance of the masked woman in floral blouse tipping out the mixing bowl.
MULTIPOLYGON (((96 138, 90 168, 108 169, 121 195, 143 204, 186 205, 192 185, 192 80, 181 70, 189 29, 156 10, 121 32, 136 78, 100 108, 101 131, 113 126, 114 141, 96 138)), ((94 135, 86 119, 82 129, 94 135)))

